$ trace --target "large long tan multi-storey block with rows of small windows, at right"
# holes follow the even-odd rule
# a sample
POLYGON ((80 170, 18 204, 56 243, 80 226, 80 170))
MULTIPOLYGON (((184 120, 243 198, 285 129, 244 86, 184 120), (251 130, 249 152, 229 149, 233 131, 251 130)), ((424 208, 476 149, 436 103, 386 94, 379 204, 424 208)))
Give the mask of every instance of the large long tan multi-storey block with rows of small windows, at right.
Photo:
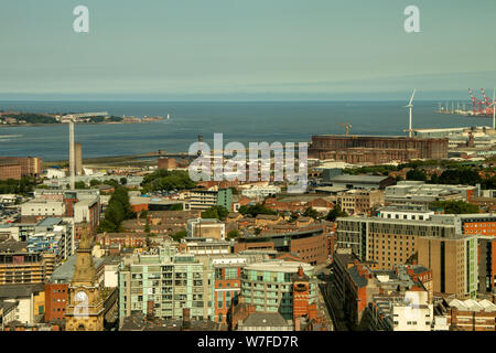
POLYGON ((418 264, 432 269, 433 291, 473 297, 477 290, 477 238, 462 235, 450 217, 432 221, 337 218, 337 246, 352 248, 373 269, 418 264))

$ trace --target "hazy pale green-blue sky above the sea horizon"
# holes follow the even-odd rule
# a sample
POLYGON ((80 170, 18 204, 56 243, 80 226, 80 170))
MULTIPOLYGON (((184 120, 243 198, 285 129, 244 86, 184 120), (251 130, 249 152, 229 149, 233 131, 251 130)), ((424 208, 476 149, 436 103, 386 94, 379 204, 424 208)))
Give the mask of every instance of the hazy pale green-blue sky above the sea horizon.
POLYGON ((467 99, 495 32, 494 0, 2 1, 0 99, 467 99))

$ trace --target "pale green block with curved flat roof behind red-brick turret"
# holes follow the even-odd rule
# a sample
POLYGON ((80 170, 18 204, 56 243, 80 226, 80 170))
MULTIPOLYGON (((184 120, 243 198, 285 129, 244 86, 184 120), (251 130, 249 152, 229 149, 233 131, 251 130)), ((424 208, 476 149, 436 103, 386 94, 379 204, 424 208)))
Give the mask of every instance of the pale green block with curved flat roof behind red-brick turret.
POLYGON ((317 300, 317 285, 313 266, 299 261, 272 260, 245 267, 241 276, 241 296, 245 303, 256 311, 279 312, 285 320, 293 320, 293 276, 299 268, 310 278, 308 302, 317 300))

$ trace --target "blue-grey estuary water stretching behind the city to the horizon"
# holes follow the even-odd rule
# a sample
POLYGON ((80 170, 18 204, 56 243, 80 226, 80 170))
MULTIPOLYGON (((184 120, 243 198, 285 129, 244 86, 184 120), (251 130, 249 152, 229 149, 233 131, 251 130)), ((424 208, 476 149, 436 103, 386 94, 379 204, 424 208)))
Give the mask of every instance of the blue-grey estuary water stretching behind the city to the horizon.
MULTIPOLYGON (((408 110, 403 101, 0 101, 0 110, 31 113, 108 111, 115 116, 164 116, 149 124, 76 125, 83 157, 185 152, 201 133, 213 143, 301 142, 312 135, 344 133, 338 124, 352 124, 352 135, 405 135, 408 110)), ((417 101, 413 128, 492 125, 490 119, 435 114, 436 101, 417 101)), ((211 145, 213 146, 213 145, 211 145)), ((0 127, 0 156, 36 156, 45 161, 68 154, 67 125, 0 127)))

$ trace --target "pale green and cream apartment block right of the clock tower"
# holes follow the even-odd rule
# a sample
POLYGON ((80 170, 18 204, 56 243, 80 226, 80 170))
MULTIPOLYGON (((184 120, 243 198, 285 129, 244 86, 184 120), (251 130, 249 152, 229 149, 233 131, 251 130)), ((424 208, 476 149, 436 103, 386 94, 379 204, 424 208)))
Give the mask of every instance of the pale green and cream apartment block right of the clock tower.
POLYGON ((119 319, 153 307, 157 318, 181 319, 183 308, 192 319, 214 315, 213 274, 207 257, 176 254, 160 248, 157 254, 134 254, 119 266, 119 319))

